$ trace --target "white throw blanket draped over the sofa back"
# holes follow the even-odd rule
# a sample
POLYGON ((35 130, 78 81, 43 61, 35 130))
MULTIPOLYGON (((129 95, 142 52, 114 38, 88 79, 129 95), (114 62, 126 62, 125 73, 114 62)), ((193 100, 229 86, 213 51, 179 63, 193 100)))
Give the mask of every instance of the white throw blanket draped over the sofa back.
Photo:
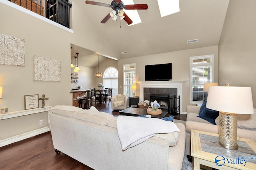
POLYGON ((157 133, 180 131, 172 121, 123 115, 117 117, 116 127, 122 150, 134 147, 157 133))

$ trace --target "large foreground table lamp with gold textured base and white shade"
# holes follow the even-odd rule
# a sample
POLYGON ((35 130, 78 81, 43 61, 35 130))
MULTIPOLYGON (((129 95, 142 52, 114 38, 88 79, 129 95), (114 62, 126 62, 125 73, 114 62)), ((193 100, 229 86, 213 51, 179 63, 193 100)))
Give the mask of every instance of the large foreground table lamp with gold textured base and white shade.
POLYGON ((219 111, 219 144, 236 150, 237 114, 253 114, 251 87, 210 86, 206 107, 219 111))

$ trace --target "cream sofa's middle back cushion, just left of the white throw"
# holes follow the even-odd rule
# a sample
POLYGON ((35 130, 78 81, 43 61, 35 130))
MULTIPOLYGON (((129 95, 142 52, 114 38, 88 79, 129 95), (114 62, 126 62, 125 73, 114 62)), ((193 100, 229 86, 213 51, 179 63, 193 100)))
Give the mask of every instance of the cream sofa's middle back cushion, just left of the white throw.
POLYGON ((99 125, 108 125, 108 121, 114 116, 102 111, 95 111, 91 109, 79 111, 76 115, 76 119, 96 123, 99 125))

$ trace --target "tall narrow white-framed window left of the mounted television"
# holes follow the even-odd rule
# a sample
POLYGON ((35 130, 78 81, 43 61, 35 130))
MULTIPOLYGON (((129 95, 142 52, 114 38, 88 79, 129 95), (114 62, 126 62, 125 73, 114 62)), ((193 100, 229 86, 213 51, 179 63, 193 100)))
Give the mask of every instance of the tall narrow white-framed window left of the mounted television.
POLYGON ((135 64, 124 65, 124 94, 127 97, 133 96, 131 86, 135 84, 135 64))

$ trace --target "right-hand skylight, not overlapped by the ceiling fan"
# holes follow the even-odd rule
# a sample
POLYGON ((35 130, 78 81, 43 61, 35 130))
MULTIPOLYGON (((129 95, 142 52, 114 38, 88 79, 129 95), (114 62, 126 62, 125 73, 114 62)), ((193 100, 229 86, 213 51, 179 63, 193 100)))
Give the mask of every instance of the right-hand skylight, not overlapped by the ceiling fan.
POLYGON ((179 0, 157 0, 161 17, 180 12, 179 0))

